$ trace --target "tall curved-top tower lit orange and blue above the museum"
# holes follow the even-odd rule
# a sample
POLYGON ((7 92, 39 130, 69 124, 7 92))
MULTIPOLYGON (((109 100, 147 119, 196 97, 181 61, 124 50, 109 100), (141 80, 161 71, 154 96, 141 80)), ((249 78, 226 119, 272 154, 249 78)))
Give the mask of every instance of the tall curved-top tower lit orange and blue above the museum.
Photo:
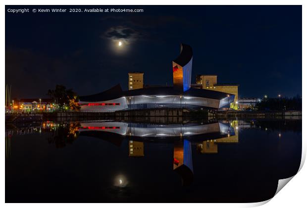
POLYGON ((173 60, 173 82, 183 92, 191 88, 193 52, 189 45, 181 44, 180 55, 173 60))

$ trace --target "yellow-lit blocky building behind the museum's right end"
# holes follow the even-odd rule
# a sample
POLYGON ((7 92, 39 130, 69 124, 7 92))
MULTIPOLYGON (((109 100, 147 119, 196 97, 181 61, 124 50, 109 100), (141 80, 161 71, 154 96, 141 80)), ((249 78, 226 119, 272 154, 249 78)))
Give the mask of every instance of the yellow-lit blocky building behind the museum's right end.
MULTIPOLYGON (((238 84, 217 84, 217 75, 197 75, 196 77, 197 88, 200 86, 202 89, 214 90, 223 93, 235 95, 234 102, 230 104, 230 108, 238 109, 238 84)), ((195 85, 194 85, 195 86, 195 85)))

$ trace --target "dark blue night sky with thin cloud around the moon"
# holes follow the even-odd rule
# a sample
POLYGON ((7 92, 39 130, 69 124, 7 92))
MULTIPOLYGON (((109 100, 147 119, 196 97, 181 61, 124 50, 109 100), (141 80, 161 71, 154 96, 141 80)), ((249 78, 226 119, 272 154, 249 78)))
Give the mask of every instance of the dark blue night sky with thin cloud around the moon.
POLYGON ((302 6, 6 6, 5 82, 14 98, 48 98, 56 84, 78 95, 143 71, 172 85, 180 43, 197 74, 240 84, 239 98, 302 95, 302 6), (142 8, 142 13, 40 13, 32 8, 142 8), (30 8, 13 14, 8 8, 30 8), (121 49, 116 43, 122 40, 121 49))

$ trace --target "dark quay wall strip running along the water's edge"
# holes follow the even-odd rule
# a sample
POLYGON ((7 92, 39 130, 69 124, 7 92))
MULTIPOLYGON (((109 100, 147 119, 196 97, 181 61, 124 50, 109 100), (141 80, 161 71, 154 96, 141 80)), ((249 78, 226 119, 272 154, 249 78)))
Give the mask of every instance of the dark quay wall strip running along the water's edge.
POLYGON ((5 114, 5 123, 73 120, 133 120, 137 122, 179 123, 183 120, 225 118, 302 119, 302 111, 188 111, 186 109, 146 109, 116 112, 43 112, 5 114))

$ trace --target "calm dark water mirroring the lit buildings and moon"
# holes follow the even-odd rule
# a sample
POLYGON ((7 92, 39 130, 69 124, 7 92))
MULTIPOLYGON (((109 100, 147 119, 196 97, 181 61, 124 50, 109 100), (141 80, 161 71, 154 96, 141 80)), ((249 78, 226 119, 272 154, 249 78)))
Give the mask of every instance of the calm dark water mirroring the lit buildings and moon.
POLYGON ((5 202, 260 202, 295 175, 302 120, 7 125, 5 202))

